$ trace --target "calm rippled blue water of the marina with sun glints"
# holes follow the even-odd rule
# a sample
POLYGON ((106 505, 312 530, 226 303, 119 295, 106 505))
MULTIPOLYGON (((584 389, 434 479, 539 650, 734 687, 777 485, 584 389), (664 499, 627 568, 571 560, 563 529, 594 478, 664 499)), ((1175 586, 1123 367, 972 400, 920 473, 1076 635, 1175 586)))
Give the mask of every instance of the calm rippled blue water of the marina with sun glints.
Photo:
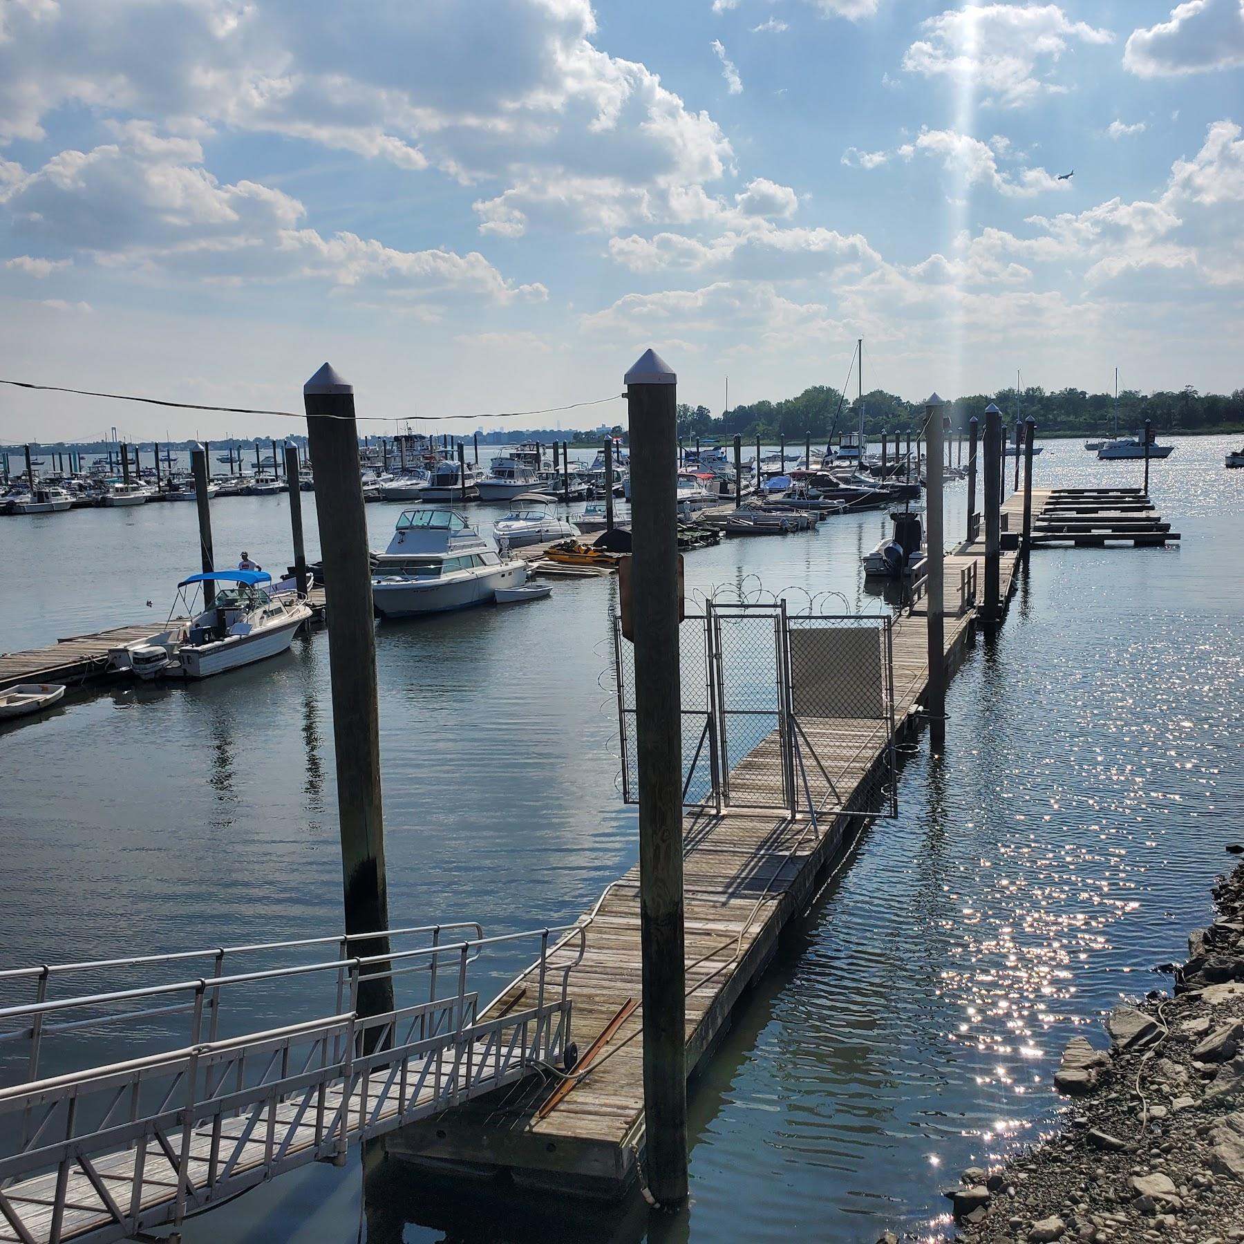
MULTIPOLYGON (((1056 1118, 1077 1025, 1166 983, 1244 822, 1244 471, 1176 440, 1153 495, 1182 547, 1040 550, 995 642, 952 684, 945 756, 912 749, 899 816, 860 840, 693 1086, 693 1202, 567 1217, 407 1191, 373 1238, 873 1240, 932 1233, 940 1184, 1056 1118), (815 1228, 812 1224, 819 1224, 815 1228)), ((1037 484, 1136 483, 1074 442, 1037 484)), ((304 494, 310 542, 313 498, 304 494)), ((950 485, 948 531, 965 485, 950 485)), ((396 506, 368 506, 383 545, 396 506)), ((483 511, 481 511, 483 513, 483 511)), ((0 520, 0 648, 160 615, 193 569, 194 508, 0 520), (147 611, 151 598, 154 608, 147 611)), ((215 545, 284 567, 287 499, 213 508, 215 545)), ((862 595, 883 515, 723 544, 688 586, 862 595), (759 580, 750 576, 759 576, 759 580)), ((224 556, 221 556, 221 561, 224 556)), ((573 918, 636 857, 618 759, 612 581, 378 632, 394 923, 490 933, 573 918)), ((333 932, 327 641, 193 687, 111 690, 0 734, 7 963, 333 932)), ((480 989, 520 954, 481 960, 480 989)), ((254 998, 250 1018, 307 999, 254 998)), ((159 1034, 152 1033, 152 1040, 159 1034)), ((106 1033, 90 1052, 116 1054, 106 1033)), ((66 1051, 66 1057, 82 1051, 66 1051)), ((357 1164, 282 1177, 189 1224, 195 1242, 353 1240, 357 1164)))

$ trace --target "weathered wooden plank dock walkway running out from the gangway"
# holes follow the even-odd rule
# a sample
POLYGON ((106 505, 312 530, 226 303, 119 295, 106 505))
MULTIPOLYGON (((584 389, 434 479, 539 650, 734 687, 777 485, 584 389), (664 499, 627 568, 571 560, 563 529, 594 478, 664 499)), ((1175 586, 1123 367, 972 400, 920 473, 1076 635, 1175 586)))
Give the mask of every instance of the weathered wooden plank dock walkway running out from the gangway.
MULTIPOLYGON (((1049 491, 1049 490, 1045 490, 1049 491)), ((1034 498, 1035 500, 1035 498, 1034 498)), ((1018 530, 1023 500, 1004 505, 1018 530)), ((975 629, 969 603, 957 611, 954 585, 983 582, 983 544, 963 545, 947 557, 945 654, 948 672, 963 663, 975 629)), ((1019 551, 1000 557, 1000 582, 1009 598, 1019 551)), ((979 588, 978 588, 979 591, 979 588)), ((917 610, 896 620, 892 631, 894 717, 899 736, 921 719, 928 683, 927 616, 917 610)), ((687 1064, 692 1074, 728 1026, 739 999, 764 972, 786 923, 802 911, 831 865, 861 825, 875 797, 887 753, 887 728, 860 719, 801 719, 827 774, 809 765, 814 805, 833 780, 841 804, 817 822, 806 814, 726 810, 695 811, 683 822, 687 1064), (841 807, 842 811, 837 811, 841 807)), ((731 769, 736 780, 774 782, 779 770, 774 735, 731 769)), ((875 805, 873 805, 875 806, 875 805)), ((610 886, 583 918, 583 963, 571 979, 572 1037, 581 1061, 571 1079, 550 1075, 494 1093, 392 1135, 392 1154, 444 1171, 505 1169, 518 1183, 559 1192, 613 1198, 642 1178, 644 1147, 639 1003, 638 865, 610 886)), ((520 975, 485 1011, 504 1014, 530 999, 532 972, 520 975)))

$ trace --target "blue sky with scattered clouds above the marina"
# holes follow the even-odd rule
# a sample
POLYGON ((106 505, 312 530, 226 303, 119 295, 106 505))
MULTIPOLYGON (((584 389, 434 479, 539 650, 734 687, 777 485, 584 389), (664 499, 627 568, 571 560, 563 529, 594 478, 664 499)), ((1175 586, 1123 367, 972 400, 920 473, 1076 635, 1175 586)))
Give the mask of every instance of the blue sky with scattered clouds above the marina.
MULTIPOLYGON (((714 412, 857 337, 908 399, 1230 391, 1242 123, 1244 0, 2 0, 0 377, 299 412, 327 360, 448 432, 648 346, 714 412)), ((109 427, 294 430, 0 386, 0 439, 109 427)))

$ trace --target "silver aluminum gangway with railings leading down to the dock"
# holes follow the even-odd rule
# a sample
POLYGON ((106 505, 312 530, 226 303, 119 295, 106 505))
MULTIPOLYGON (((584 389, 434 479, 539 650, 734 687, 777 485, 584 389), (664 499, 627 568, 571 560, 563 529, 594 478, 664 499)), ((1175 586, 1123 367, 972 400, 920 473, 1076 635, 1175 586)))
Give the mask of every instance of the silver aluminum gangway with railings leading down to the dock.
POLYGON ((0 1008, 0 1069, 20 1076, 0 1087, 0 1242, 177 1234, 188 1215, 295 1167, 341 1164, 351 1141, 571 1067, 569 980, 583 947, 580 924, 489 938, 466 923, 0 972, 6 996, 34 993, 0 1008), (387 954, 360 953, 381 935, 387 954), (398 948, 412 939, 422 944, 398 948), (516 1000, 526 1005, 480 1020, 489 1008, 468 990, 469 965, 526 943, 539 945, 535 988, 516 1000), (323 958, 331 945, 336 958, 323 958), (239 959, 306 955, 233 970, 239 959), (75 975, 133 979, 194 960, 210 974, 51 996, 75 975), (419 985, 418 1000, 361 1015, 360 988, 383 980, 394 995, 419 985), (270 1011, 292 998, 312 1016, 249 1030, 265 1000, 270 1011), (169 1026, 173 1015, 189 1016, 188 1031, 169 1026), (90 1061, 101 1040, 157 1047, 62 1069, 75 1055, 90 1061))

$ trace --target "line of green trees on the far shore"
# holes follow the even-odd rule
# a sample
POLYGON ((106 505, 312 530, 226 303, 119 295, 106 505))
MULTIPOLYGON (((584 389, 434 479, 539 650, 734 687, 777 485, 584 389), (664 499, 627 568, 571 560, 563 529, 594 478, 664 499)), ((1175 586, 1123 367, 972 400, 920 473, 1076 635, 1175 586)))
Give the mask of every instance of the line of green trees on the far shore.
MULTIPOLYGON (((718 417, 705 406, 683 403, 678 407, 678 435, 683 440, 735 435, 754 440, 759 435, 771 443, 780 437, 802 440, 811 433, 814 440, 836 439, 860 427, 858 402, 858 398, 843 398, 829 384, 816 384, 799 397, 736 406, 718 417)), ((957 398, 947 409, 952 430, 967 434, 973 415, 984 427, 985 407, 990 402, 1001 409, 1004 423, 1014 424, 1031 415, 1039 435, 1102 435, 1113 432, 1115 427, 1113 393, 1087 393, 1076 388, 1046 392, 1040 386, 1029 386, 957 398)), ((873 389, 863 396, 863 428, 870 435, 914 430, 923 418, 921 403, 904 402, 896 393, 873 389)), ((1178 392, 1123 389, 1118 394, 1120 435, 1140 430, 1146 419, 1158 433, 1239 432, 1244 429, 1244 388, 1230 394, 1198 393, 1191 384, 1178 392)))

